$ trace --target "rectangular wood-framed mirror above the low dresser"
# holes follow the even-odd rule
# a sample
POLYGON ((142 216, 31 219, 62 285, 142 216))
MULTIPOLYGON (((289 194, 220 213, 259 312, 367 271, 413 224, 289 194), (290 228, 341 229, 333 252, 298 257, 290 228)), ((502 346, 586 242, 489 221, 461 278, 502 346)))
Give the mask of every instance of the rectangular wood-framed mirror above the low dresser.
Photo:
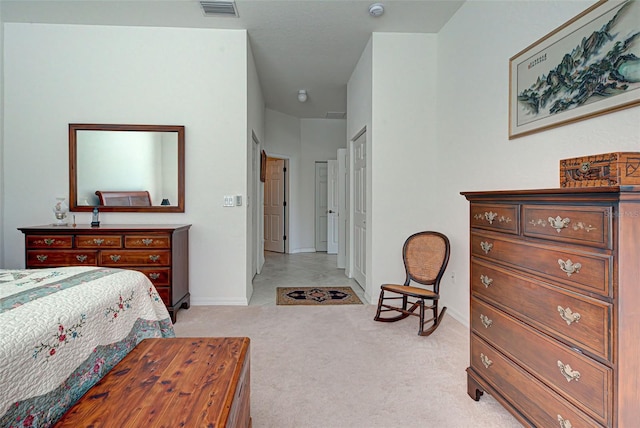
POLYGON ((69 124, 71 211, 184 212, 184 126, 69 124))

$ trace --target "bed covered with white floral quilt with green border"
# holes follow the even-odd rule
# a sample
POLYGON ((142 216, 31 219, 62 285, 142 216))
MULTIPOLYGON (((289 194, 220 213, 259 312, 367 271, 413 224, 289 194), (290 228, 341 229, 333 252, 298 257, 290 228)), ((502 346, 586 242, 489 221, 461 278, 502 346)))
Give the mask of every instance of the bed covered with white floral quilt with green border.
POLYGON ((142 273, 0 270, 0 427, 53 425, 141 340, 174 337, 142 273))

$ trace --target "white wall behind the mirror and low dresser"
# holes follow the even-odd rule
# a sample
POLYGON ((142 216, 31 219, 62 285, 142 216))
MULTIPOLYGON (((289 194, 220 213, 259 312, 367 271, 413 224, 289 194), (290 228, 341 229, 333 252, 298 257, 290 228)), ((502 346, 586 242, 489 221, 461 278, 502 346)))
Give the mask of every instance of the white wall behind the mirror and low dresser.
POLYGON ((50 223, 68 193, 69 123, 185 125, 186 212, 100 220, 192 224, 192 303, 246 304, 246 206, 222 206, 246 200, 247 128, 261 122, 247 119, 246 32, 5 23, 4 48, 5 265, 24 266, 16 228, 50 223))

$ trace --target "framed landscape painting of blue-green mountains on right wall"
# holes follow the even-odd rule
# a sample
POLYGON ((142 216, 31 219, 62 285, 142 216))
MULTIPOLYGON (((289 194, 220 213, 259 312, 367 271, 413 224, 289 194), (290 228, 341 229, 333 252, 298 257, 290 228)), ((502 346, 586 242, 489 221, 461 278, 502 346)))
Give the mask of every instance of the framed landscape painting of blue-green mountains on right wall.
POLYGON ((640 0, 601 0, 509 59, 509 139, 640 104, 640 0))

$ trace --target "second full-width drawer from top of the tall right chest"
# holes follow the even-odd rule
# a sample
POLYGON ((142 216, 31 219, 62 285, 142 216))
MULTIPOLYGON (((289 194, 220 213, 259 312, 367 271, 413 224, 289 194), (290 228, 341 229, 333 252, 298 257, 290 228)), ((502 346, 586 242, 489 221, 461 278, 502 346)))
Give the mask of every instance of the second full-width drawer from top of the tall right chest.
POLYGON ((602 360, 612 360, 610 303, 540 281, 490 263, 471 261, 471 290, 529 324, 602 360))

